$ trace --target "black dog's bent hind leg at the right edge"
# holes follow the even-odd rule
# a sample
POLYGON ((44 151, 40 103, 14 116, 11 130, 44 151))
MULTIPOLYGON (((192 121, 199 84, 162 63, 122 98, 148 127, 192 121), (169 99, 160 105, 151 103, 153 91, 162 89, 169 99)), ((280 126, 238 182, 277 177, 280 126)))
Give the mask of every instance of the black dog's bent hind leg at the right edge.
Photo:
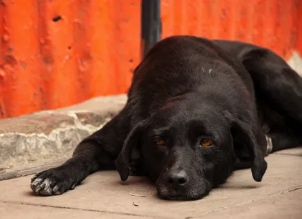
POLYGON ((254 49, 242 61, 250 72, 272 151, 302 144, 302 78, 267 49, 254 49))

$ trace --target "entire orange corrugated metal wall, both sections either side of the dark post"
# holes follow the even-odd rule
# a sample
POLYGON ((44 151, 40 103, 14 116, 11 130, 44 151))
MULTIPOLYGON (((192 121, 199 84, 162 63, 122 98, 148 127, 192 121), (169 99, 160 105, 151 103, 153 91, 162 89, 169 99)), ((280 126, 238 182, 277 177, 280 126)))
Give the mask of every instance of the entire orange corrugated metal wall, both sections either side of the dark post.
MULTIPOLYGON (((301 0, 161 0, 162 38, 302 52, 301 0)), ((140 0, 0 0, 0 118, 125 93, 140 61, 140 0)))

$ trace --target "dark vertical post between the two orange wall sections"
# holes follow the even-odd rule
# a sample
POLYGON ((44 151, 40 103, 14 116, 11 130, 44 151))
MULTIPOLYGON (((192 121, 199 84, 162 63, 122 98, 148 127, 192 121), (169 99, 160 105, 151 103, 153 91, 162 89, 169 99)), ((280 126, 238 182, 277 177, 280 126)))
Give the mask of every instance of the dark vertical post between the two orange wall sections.
POLYGON ((161 39, 160 0, 141 1, 141 49, 142 55, 161 39))

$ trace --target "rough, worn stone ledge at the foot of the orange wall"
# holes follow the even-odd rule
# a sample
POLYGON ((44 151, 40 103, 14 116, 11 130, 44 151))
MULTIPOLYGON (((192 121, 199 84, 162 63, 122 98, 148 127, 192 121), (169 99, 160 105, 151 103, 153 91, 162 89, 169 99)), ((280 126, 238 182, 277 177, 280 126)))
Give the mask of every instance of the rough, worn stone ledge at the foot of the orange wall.
POLYGON ((126 99, 126 95, 96 97, 67 108, 0 120, 0 180, 32 174, 34 168, 23 168, 32 163, 67 159, 79 141, 122 109, 126 99), (20 173, 22 169, 25 173, 20 173))

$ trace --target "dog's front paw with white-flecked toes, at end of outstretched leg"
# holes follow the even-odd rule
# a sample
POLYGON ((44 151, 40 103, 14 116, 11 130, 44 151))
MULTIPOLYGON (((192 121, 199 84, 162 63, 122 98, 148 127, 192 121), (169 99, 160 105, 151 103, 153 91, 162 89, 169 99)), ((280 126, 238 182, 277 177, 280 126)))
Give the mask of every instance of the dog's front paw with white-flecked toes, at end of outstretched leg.
POLYGON ((76 186, 67 170, 61 167, 39 172, 31 178, 31 189, 37 195, 61 195, 76 186))

